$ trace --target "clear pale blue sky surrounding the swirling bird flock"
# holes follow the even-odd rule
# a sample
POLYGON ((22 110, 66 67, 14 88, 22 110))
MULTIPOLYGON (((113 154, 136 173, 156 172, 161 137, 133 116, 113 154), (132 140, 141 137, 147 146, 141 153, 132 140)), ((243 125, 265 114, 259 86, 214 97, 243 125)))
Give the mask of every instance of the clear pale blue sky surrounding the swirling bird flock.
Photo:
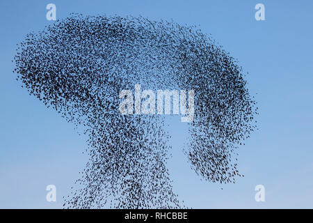
POLYGON ((88 157, 79 136, 47 109, 13 74, 16 44, 40 31, 47 3, 57 19, 83 15, 143 15, 200 25, 239 60, 248 88, 256 95, 259 130, 239 148, 236 184, 208 183, 190 169, 182 154, 186 131, 171 122, 168 166, 179 199, 192 208, 313 208, 313 1, 0 1, 0 208, 62 208, 63 195, 79 177, 88 157), (255 20, 264 3, 266 21, 255 20), (46 186, 56 185, 56 202, 46 186), (255 185, 266 201, 255 201, 255 185), (221 190, 223 187, 223 190, 221 190))

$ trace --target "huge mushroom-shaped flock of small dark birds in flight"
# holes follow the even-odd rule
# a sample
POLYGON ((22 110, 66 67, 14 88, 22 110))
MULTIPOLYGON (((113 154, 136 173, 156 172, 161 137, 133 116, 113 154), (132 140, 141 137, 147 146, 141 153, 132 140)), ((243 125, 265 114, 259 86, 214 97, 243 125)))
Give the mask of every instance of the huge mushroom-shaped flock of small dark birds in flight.
POLYGON ((29 33, 14 58, 31 95, 88 135, 89 161, 65 208, 181 208, 167 166, 164 117, 122 115, 119 92, 193 89, 184 148, 205 180, 234 183, 236 148, 255 129, 242 68, 195 26, 144 17, 70 17, 29 33))

